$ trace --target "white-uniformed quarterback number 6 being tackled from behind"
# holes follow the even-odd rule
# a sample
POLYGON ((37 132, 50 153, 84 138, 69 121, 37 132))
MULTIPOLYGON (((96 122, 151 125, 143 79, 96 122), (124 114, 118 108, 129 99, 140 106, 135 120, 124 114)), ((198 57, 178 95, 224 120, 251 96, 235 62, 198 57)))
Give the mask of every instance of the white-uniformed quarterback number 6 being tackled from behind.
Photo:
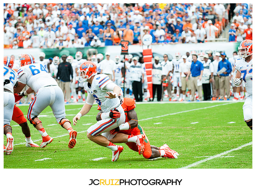
POLYGON ((83 82, 88 94, 86 103, 73 118, 73 124, 76 125, 77 121, 90 111, 94 101, 96 101, 103 111, 102 120, 87 129, 87 137, 100 146, 112 150, 112 161, 117 161, 124 147, 109 142, 101 133, 118 127, 125 120, 124 109, 118 98, 121 88, 114 84, 106 74, 97 75, 97 67, 91 61, 86 61, 80 65, 78 73, 80 73, 79 80, 83 82))

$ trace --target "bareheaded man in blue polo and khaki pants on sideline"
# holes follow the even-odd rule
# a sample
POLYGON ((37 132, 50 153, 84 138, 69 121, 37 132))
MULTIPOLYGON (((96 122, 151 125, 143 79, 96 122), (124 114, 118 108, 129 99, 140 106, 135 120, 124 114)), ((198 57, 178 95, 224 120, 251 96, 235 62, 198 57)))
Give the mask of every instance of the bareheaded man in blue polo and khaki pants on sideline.
POLYGON ((188 81, 188 77, 191 74, 191 98, 189 101, 194 101, 194 95, 196 90, 198 92, 199 101, 202 101, 202 84, 200 86, 197 86, 197 80, 202 80, 204 66, 200 61, 197 60, 196 53, 192 53, 192 59, 193 61, 191 63, 191 68, 188 71, 188 75, 186 77, 186 81, 188 81))

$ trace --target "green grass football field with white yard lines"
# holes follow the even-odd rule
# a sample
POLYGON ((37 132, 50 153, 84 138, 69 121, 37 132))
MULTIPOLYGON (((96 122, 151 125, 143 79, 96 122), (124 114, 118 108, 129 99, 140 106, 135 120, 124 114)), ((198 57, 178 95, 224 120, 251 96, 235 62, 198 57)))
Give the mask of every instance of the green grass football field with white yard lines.
MULTIPOLYGON (((78 131, 73 149, 68 148, 68 132, 47 107, 38 117, 53 142, 42 149, 26 147, 21 128, 12 121, 14 151, 4 155, 4 168, 252 168, 252 130, 243 121, 242 105, 228 101, 138 103, 139 124, 150 144, 166 143, 180 156, 150 161, 121 144, 124 151, 116 162, 111 162, 112 151, 87 139, 87 128, 96 122, 96 105, 73 126, 78 131)), ((26 116, 29 106, 17 106, 26 116)), ((65 108, 72 122, 82 105, 65 108)), ((41 144, 39 132, 30 123, 29 127, 32 140, 41 144)))

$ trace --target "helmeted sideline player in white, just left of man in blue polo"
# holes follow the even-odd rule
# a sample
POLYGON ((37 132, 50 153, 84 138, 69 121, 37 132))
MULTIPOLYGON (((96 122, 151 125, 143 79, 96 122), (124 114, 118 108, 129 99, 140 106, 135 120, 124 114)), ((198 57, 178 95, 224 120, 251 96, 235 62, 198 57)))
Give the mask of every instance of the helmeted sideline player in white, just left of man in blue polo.
MULTIPOLYGON (((174 99, 172 101, 178 101, 177 94, 181 93, 181 76, 179 73, 179 64, 183 61, 181 59, 181 54, 179 52, 175 53, 176 59, 172 60, 173 63, 173 87, 174 87, 174 99), (179 92, 177 93, 177 87, 180 87, 179 92)), ((181 100, 181 97, 180 97, 181 100)), ((179 101, 180 101, 179 100, 179 101)))

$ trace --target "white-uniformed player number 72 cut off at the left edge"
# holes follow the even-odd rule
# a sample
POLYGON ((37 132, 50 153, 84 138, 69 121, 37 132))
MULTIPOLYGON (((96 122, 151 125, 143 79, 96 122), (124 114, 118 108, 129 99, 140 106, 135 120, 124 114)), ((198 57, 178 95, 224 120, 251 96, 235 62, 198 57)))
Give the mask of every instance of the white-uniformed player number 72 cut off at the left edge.
POLYGON ((14 147, 10 123, 15 104, 13 88, 18 85, 18 75, 12 67, 13 60, 10 56, 7 56, 7 61, 4 63, 4 135, 7 137, 7 145, 6 148, 4 146, 4 151, 7 155, 12 153, 14 147), (12 63, 10 63, 11 61, 12 63))

